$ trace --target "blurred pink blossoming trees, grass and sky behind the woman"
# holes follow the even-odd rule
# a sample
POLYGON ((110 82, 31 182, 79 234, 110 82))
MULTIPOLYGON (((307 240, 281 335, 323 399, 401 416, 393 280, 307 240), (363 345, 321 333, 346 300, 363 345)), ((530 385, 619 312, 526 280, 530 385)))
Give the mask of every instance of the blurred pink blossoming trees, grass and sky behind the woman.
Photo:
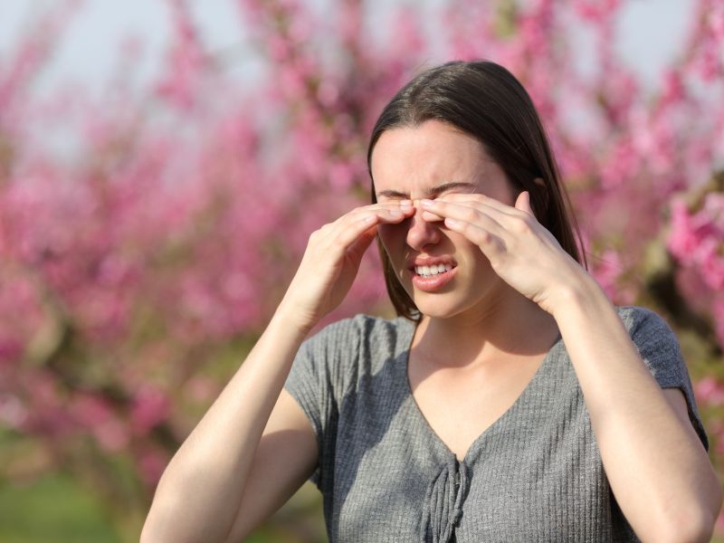
MULTIPOLYGON (((533 96, 589 270, 675 329, 724 472, 721 2, 5 0, 0 540, 138 540, 310 232, 367 201, 383 105, 471 58, 533 96)), ((391 313, 372 251, 359 311, 391 313)), ((249 540, 325 541, 319 492, 249 540)))

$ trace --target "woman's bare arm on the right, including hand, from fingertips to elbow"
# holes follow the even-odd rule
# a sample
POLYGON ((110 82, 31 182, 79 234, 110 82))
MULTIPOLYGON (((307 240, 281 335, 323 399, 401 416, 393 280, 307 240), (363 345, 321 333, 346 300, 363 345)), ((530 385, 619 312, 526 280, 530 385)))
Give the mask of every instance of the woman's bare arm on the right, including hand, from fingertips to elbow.
POLYGON ((662 390, 595 280, 541 226, 529 195, 422 201, 476 243, 493 270, 557 321, 586 401, 606 476, 644 541, 709 541, 721 488, 676 389, 662 390), (531 272, 535 271, 535 272, 531 272))

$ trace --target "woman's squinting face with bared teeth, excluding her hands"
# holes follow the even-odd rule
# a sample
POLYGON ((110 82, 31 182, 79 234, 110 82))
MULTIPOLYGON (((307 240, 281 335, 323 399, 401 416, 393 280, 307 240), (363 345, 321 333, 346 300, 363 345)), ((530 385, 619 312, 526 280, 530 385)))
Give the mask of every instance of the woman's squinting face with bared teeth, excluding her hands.
POLYGON ((443 222, 427 222, 415 200, 480 193, 513 205, 502 169, 472 136, 438 120, 390 129, 371 159, 378 202, 413 200, 415 214, 378 227, 397 278, 417 309, 446 318, 485 311, 503 286, 480 248, 443 222), (435 273, 436 272, 436 273, 435 273))

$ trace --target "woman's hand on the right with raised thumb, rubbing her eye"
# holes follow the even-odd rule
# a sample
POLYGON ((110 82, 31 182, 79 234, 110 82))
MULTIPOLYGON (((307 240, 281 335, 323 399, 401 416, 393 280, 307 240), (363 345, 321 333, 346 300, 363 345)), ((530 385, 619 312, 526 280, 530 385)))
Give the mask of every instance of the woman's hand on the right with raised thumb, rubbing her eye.
POLYGON ((591 281, 538 223, 528 192, 520 193, 515 207, 480 194, 444 195, 420 205, 424 220, 444 220, 449 230, 478 245, 503 281, 548 313, 576 286, 591 281))

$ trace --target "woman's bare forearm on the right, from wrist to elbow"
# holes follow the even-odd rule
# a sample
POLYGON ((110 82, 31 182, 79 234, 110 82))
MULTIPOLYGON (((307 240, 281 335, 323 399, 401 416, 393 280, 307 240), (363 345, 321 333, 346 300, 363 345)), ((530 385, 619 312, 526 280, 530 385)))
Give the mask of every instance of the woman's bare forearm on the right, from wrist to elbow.
POLYGON ((585 281, 567 292, 554 316, 606 476, 633 529, 644 540, 662 540, 666 527, 710 516, 719 485, 707 454, 663 395, 605 293, 593 279, 585 281))

